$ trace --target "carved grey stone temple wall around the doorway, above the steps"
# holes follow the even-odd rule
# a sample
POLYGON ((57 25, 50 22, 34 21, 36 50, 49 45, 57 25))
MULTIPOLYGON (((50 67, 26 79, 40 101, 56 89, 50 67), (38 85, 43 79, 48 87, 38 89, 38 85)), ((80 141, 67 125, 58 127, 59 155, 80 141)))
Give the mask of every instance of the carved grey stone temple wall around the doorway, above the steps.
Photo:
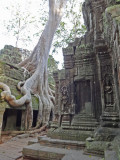
POLYGON ((82 10, 87 32, 63 48, 65 70, 54 74, 56 107, 52 127, 60 126, 61 134, 69 129, 71 133, 84 130, 85 135, 97 126, 90 124, 94 119, 102 127, 96 135, 102 132, 107 140, 111 133, 105 133, 106 128, 119 130, 120 120, 120 1, 86 0, 82 10))

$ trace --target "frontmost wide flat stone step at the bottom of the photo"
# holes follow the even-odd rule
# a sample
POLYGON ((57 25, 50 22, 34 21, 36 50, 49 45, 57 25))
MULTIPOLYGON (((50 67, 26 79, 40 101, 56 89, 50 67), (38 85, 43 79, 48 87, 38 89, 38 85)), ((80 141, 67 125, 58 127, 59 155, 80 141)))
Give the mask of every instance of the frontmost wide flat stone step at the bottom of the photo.
POLYGON ((70 150, 43 146, 40 143, 23 148, 23 159, 39 160, 99 160, 100 157, 84 155, 82 150, 70 150))

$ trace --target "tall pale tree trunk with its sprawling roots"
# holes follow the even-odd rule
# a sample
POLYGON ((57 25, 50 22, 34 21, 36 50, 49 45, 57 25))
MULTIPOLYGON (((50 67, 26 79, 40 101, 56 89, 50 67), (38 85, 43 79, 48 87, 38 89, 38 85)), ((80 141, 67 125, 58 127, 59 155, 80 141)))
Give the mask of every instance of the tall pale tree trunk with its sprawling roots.
POLYGON ((27 118, 25 127, 31 128, 33 121, 33 110, 31 101, 31 92, 39 98, 39 112, 37 119, 37 127, 49 122, 50 112, 54 107, 54 92, 50 89, 48 84, 47 62, 49 51, 55 31, 61 21, 63 8, 67 0, 49 0, 49 19, 45 29, 34 48, 32 54, 25 61, 21 62, 19 66, 24 67, 31 73, 31 77, 26 82, 19 83, 18 88, 24 95, 21 99, 16 100, 10 93, 10 90, 5 88, 2 97, 6 99, 12 106, 27 106, 27 118))

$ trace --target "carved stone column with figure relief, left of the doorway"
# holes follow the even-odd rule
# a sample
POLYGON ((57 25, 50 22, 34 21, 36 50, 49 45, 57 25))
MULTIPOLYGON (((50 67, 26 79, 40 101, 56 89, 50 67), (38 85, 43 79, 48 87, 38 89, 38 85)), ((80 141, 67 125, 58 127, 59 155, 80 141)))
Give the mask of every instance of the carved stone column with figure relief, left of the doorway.
POLYGON ((77 45, 77 39, 74 44, 69 43, 67 48, 63 48, 65 71, 59 77, 60 80, 60 108, 61 108, 61 125, 70 126, 72 117, 75 114, 74 102, 74 55, 77 45))

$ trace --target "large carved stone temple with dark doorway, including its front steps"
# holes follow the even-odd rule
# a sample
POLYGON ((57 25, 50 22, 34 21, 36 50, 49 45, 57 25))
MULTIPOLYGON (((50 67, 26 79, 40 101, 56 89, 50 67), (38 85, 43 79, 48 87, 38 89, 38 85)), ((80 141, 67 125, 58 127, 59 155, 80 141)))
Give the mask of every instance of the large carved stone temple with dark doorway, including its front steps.
POLYGON ((120 1, 85 0, 82 10, 87 32, 63 49, 65 69, 54 73, 56 106, 48 137, 24 148, 24 157, 65 159, 67 149, 84 147, 105 160, 119 157, 120 1))

